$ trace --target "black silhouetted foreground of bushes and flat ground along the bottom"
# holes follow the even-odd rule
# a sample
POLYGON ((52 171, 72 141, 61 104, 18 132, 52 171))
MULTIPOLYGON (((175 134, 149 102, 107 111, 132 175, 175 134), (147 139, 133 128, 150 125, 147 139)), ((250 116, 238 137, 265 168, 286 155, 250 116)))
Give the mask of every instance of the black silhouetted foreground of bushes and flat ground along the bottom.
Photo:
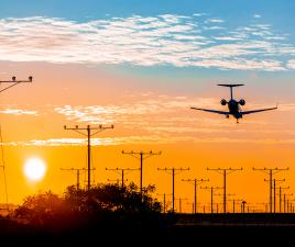
MULTIPOLYGON (((294 243, 294 214, 162 214, 150 186, 100 184, 29 197, 0 218, 0 242, 15 246, 156 246, 294 243), (105 244, 102 244, 105 243, 105 244)), ((7 246, 9 246, 7 245, 7 246)))

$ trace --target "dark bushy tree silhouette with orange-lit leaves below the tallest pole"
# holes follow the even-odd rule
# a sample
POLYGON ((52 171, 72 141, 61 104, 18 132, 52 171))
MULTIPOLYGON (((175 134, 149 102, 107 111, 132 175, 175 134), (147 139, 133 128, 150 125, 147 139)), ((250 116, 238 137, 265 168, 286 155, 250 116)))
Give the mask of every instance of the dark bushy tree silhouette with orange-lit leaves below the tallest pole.
POLYGON ((14 217, 45 227, 107 229, 148 227, 161 223, 161 203, 152 198, 154 186, 139 192, 129 186, 98 184, 90 190, 68 187, 62 197, 51 191, 28 197, 14 217))

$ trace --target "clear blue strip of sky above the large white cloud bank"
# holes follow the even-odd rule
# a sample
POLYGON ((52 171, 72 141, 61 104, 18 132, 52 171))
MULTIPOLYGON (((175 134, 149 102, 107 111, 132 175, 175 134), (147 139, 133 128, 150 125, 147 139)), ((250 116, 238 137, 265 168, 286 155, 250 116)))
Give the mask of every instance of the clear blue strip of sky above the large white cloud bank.
POLYGON ((295 23, 293 18, 295 2, 292 0, 1 0, 0 7, 1 18, 43 15, 78 21, 102 19, 106 15, 141 14, 146 16, 165 13, 190 15, 205 12, 239 24, 256 13, 261 14, 264 21, 291 34, 294 33, 295 23))

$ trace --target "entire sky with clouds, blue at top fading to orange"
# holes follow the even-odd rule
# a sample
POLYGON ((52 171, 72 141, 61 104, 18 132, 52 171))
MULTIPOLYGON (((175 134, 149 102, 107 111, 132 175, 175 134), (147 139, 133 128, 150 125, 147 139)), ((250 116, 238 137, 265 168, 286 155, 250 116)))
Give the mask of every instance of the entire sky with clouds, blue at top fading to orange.
MULTIPOLYGON (((176 177, 187 211, 193 187, 182 179, 222 186, 207 167, 243 167, 228 178, 228 191, 252 209, 269 199, 266 173, 252 167, 289 167, 276 178, 295 187, 295 2, 0 0, 0 80, 34 78, 0 96, 11 203, 75 183, 75 172, 61 168, 86 167, 86 139, 64 125, 114 125, 91 138, 96 183, 120 178, 106 168, 139 167, 122 150, 162 150, 144 161, 144 183, 159 194, 171 193, 172 178, 156 168, 189 167, 176 177), (225 110, 229 91, 220 82, 245 85, 234 90, 243 110, 278 110, 236 124, 189 109, 225 110), (30 157, 47 165, 40 182, 24 177, 30 157)), ((127 177, 139 183, 138 171, 127 177)), ((207 209, 209 192, 199 198, 207 209)))

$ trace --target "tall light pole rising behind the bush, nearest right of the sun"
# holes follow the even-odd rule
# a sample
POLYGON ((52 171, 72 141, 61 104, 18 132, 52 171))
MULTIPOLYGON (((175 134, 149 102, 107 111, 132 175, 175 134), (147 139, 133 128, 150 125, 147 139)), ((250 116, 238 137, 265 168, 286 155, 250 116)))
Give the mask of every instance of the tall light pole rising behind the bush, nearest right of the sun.
POLYGON ((87 183, 87 189, 90 190, 90 183, 91 183, 91 179, 90 179, 90 171, 91 171, 91 143, 90 143, 90 138, 91 136, 96 135, 99 132, 102 132, 108 128, 113 128, 113 125, 110 126, 102 126, 99 125, 97 127, 91 127, 90 125, 87 125, 86 127, 79 127, 78 125, 76 125, 75 127, 67 127, 66 125, 64 126, 64 130, 67 131, 75 131, 84 136, 87 136, 87 171, 88 171, 88 183, 87 183), (86 133, 85 133, 86 131, 86 133), (94 132, 94 133, 92 133, 94 132))

